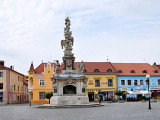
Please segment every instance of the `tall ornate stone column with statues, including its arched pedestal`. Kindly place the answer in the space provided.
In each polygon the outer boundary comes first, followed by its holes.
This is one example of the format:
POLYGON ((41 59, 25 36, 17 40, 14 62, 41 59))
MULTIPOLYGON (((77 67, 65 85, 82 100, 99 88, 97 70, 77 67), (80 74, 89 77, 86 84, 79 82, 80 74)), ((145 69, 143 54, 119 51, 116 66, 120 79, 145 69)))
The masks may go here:
POLYGON ((60 73, 60 64, 57 60, 55 76, 51 78, 53 86, 53 97, 51 105, 83 105, 89 104, 86 96, 87 79, 84 74, 85 63, 82 62, 74 69, 75 57, 72 53, 74 38, 70 31, 70 18, 66 17, 64 28, 65 40, 61 41, 64 48, 63 71, 60 73))

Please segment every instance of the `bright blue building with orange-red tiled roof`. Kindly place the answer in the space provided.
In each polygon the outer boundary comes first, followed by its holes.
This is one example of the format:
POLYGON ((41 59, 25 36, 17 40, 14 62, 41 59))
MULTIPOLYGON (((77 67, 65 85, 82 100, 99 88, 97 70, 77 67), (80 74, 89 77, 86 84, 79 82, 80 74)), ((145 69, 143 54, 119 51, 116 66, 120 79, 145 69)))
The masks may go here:
POLYGON ((160 97, 160 72, 148 63, 112 63, 118 75, 118 90, 128 94, 123 99, 148 97, 146 75, 150 75, 151 97, 160 97))

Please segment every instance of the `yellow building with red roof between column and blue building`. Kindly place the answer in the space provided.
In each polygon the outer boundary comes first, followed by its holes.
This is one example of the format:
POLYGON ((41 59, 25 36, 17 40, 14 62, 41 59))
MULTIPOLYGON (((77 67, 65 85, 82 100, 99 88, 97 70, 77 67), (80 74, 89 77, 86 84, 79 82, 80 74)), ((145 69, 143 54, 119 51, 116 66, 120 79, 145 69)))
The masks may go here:
POLYGON ((115 99, 117 74, 110 62, 86 62, 85 77, 88 77, 86 95, 89 101, 115 99))

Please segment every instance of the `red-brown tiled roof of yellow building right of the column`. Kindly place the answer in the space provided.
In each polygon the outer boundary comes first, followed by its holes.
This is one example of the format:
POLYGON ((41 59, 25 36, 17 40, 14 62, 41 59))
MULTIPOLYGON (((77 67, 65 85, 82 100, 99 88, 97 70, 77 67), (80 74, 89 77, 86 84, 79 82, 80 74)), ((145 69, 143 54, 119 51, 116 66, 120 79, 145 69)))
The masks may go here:
MULTIPOLYGON (((74 63, 75 69, 76 69, 77 64, 80 64, 80 63, 81 62, 74 63)), ((100 73, 107 73, 108 69, 112 70, 111 73, 116 72, 110 62, 85 62, 85 63, 86 63, 85 70, 87 71, 87 73, 94 73, 95 69, 98 69, 100 73)), ((63 70, 63 64, 61 64, 60 69, 63 70)))

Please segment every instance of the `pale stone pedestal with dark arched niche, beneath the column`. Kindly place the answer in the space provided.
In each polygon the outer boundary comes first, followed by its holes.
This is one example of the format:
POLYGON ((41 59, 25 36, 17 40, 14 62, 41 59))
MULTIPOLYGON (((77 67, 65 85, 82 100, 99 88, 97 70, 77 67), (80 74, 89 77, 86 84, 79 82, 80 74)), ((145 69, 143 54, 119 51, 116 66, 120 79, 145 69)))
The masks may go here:
POLYGON ((53 81, 53 96, 51 105, 86 105, 89 104, 85 88, 87 78, 78 74, 59 74, 51 78, 53 81))

